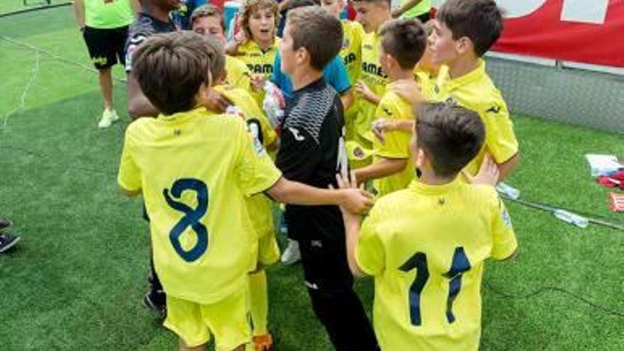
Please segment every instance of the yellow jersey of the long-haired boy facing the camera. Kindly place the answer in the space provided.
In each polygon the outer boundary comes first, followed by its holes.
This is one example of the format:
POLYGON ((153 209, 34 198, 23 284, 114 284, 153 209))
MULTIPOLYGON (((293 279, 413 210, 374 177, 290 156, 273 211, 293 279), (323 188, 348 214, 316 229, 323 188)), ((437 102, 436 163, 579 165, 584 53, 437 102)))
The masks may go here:
MULTIPOLYGON (((269 80, 271 79, 271 74, 273 74, 273 65, 277 50, 279 50, 279 38, 275 38, 273 46, 266 51, 262 50, 254 40, 246 40, 245 43, 238 47, 238 55, 236 58, 245 62, 252 76, 261 74, 264 78, 269 80)), ((262 106, 264 91, 252 91, 252 96, 255 101, 262 106)))

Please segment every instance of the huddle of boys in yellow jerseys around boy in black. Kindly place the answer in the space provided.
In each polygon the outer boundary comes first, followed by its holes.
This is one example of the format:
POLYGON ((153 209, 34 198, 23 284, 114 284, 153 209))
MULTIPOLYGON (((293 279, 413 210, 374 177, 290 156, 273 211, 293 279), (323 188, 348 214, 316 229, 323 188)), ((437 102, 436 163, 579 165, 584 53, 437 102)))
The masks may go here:
POLYGON ((286 204, 336 350, 478 350, 484 261, 518 247, 494 189, 518 143, 481 59, 501 11, 448 0, 423 24, 354 0, 355 22, 338 19, 341 0, 321 5, 290 9, 282 38, 274 0, 248 0, 229 43, 211 5, 191 16, 195 33, 130 28, 130 112, 157 118, 128 126, 118 182, 145 201, 165 326, 180 350, 211 335, 216 350, 272 348, 264 267, 286 204), (352 89, 326 82, 335 57, 352 89), (262 109, 275 71, 291 84, 277 128, 262 109), (373 325, 352 289, 364 276, 373 325))

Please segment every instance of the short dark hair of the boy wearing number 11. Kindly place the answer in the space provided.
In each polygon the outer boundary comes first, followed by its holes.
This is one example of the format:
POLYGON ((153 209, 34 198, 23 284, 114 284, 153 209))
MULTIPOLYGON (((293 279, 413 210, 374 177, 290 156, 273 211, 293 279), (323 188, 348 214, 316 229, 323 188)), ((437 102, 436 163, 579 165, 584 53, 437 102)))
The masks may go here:
POLYGON ((455 177, 483 145, 479 114, 461 106, 423 103, 416 107, 416 144, 439 177, 455 177))

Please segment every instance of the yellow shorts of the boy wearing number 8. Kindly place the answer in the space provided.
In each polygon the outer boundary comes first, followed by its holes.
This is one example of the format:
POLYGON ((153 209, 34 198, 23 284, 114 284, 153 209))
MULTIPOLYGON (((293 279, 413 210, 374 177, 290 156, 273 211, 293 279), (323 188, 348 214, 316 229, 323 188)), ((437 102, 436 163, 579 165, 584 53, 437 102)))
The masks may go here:
POLYGON ((167 319, 163 325, 188 347, 206 344, 212 334, 216 350, 229 351, 251 341, 248 313, 247 289, 208 305, 167 295, 167 319))

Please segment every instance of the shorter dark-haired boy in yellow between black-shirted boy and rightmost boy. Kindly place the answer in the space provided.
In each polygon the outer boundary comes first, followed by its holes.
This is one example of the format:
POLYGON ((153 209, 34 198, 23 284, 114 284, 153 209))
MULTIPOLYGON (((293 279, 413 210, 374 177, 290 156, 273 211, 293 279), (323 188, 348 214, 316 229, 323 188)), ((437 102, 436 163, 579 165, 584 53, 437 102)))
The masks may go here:
MULTIPOLYGON (((379 61, 391 83, 379 101, 375 116, 389 121, 413 121, 411 104, 392 91, 392 85, 400 80, 414 81, 414 67, 427 46, 425 28, 418 20, 401 19, 384 24, 379 34, 379 61)), ((355 171, 357 182, 374 179, 373 189, 378 197, 405 189, 416 173, 410 160, 409 140, 410 135, 400 130, 386 133, 384 143, 375 138, 373 163, 355 171)))

